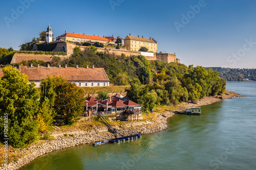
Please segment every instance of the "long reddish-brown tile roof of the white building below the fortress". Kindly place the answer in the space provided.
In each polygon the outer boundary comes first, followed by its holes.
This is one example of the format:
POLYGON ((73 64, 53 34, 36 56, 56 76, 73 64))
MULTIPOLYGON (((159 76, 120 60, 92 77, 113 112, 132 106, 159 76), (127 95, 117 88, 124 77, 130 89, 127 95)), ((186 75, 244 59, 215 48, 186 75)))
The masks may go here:
POLYGON ((68 81, 110 81, 104 68, 37 67, 19 66, 19 71, 28 75, 30 81, 42 80, 47 76, 62 76, 68 81))

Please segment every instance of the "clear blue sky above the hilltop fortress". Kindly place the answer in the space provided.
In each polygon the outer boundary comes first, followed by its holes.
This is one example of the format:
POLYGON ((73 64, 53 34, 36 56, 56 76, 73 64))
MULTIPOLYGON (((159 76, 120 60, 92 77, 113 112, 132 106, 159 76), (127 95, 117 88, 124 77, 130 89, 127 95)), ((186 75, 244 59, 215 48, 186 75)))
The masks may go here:
POLYGON ((256 1, 10 0, 0 2, 0 47, 67 32, 154 38, 185 65, 256 68, 256 1))

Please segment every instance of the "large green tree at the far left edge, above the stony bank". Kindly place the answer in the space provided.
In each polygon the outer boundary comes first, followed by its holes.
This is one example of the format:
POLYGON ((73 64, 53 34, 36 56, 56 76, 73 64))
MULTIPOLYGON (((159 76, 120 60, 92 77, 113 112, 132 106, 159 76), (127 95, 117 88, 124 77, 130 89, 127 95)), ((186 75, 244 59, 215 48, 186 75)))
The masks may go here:
MULTIPOLYGON (((33 119, 38 110, 39 94, 29 83, 28 76, 17 69, 6 66, 0 78, 0 124, 4 127, 4 115, 8 114, 9 143, 14 148, 24 148, 37 139, 38 122, 33 119)), ((0 131, 1 138, 6 138, 0 131)))

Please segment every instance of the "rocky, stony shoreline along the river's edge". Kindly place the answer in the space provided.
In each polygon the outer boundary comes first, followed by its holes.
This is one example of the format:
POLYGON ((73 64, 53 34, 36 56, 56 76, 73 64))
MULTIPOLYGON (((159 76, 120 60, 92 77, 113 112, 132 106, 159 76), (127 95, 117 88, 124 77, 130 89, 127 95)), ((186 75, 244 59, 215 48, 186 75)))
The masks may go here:
MULTIPOLYGON (((191 102, 182 102, 180 105, 176 106, 175 110, 181 111, 184 110, 185 107, 199 107, 204 105, 210 105, 216 102, 221 102, 225 99, 232 99, 236 97, 240 98, 244 96, 245 95, 241 95, 236 92, 225 91, 222 95, 204 97, 203 99, 200 99, 197 104, 191 102)), ((152 118, 152 120, 146 120, 144 122, 127 122, 124 126, 115 126, 115 128, 124 135, 132 135, 132 132, 128 128, 132 129, 136 133, 141 132, 141 134, 160 132, 168 128, 168 118, 175 115, 173 111, 174 110, 165 109, 165 112, 163 113, 155 113, 154 119, 152 118)), ((17 161, 8 163, 7 166, 2 165, 0 169, 18 169, 30 163, 35 158, 50 153, 52 151, 74 147, 75 145, 102 141, 100 137, 94 136, 93 134, 101 135, 105 138, 115 137, 112 133, 108 132, 108 128, 106 128, 105 126, 93 127, 89 131, 76 130, 68 132, 68 136, 64 135, 66 133, 67 132, 52 134, 52 136, 55 137, 55 139, 53 140, 39 140, 37 142, 39 144, 31 144, 28 148, 13 151, 17 155, 25 156, 18 158, 17 161), (74 136, 71 136, 71 134, 74 134, 74 136)))

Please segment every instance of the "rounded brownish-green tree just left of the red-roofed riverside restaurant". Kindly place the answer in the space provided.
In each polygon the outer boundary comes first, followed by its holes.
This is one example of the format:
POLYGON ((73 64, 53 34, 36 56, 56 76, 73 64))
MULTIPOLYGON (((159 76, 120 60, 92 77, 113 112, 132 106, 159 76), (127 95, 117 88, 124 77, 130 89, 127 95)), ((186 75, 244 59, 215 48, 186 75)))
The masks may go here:
POLYGON ((84 110, 84 92, 76 84, 64 82, 56 87, 55 107, 64 114, 64 122, 71 125, 84 110))

